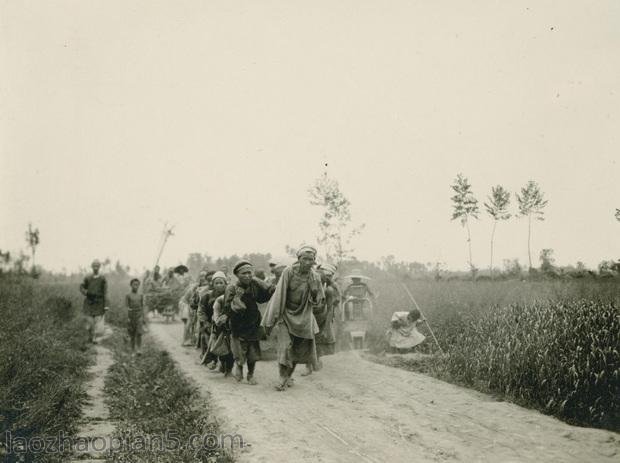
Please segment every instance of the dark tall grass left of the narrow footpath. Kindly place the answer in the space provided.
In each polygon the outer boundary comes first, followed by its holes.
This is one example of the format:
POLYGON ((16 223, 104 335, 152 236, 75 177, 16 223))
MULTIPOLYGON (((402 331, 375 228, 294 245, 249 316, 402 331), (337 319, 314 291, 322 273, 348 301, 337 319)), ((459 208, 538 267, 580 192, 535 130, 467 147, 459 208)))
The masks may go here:
POLYGON ((0 460, 66 458, 58 448, 40 450, 39 443, 77 431, 94 354, 79 312, 78 299, 65 288, 0 278, 0 460), (24 442, 31 450, 19 449, 24 442))

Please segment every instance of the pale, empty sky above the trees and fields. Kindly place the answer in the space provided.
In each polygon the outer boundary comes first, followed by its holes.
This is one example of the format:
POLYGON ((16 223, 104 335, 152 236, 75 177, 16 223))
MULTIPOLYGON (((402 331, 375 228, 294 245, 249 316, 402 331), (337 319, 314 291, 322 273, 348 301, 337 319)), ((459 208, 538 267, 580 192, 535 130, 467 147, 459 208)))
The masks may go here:
MULTIPOLYGON (((467 268, 463 173, 538 182, 532 254, 620 257, 620 2, 0 0, 0 249, 60 271, 109 257, 284 255, 327 173, 359 259, 467 268)), ((512 211, 516 211, 514 195, 512 211)), ((492 222, 471 226, 488 267, 492 222)), ((527 221, 496 260, 527 262, 527 221)))

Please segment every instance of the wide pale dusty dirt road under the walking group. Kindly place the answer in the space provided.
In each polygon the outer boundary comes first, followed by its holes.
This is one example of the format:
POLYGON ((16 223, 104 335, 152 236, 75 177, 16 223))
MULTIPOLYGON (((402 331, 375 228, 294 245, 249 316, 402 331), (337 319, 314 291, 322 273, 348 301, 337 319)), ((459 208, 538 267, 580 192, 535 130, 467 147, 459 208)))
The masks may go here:
MULTIPOLYGON (((154 322, 157 339, 210 394, 224 432, 243 436, 240 461, 617 462, 620 435, 569 426, 536 411, 428 376, 368 362, 355 352, 324 358, 309 377, 274 389, 275 362, 259 385, 198 365, 181 325, 154 322)), ((303 369, 300 369, 303 371, 303 369)))

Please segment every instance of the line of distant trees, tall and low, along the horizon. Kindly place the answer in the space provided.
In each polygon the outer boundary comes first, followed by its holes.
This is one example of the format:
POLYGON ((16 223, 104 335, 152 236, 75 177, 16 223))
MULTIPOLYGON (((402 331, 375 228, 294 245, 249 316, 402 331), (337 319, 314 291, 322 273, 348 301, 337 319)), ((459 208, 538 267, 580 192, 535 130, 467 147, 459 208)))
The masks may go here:
MULTIPOLYGON (((459 220, 463 228, 467 233, 467 246, 469 254, 469 274, 471 279, 476 279, 479 269, 473 263, 472 247, 471 247, 471 230, 470 222, 472 220, 478 220, 480 215, 480 206, 478 199, 475 197, 472 185, 463 174, 459 173, 451 185, 453 191, 452 201, 452 220, 459 220)), ((322 251, 321 254, 325 257, 325 260, 332 262, 337 266, 346 264, 367 264, 374 266, 381 271, 396 272, 402 275, 408 275, 409 277, 428 277, 433 275, 435 279, 446 277, 458 277, 462 278, 464 272, 448 271, 445 269, 445 264, 441 262, 396 262, 394 256, 382 257, 380 261, 369 263, 365 261, 357 261, 354 256, 354 247, 352 241, 364 230, 365 224, 356 225, 352 220, 351 203, 344 195, 340 186, 334 178, 331 178, 324 173, 321 177, 315 180, 315 182, 308 189, 310 198, 310 205, 316 206, 322 209, 322 215, 319 219, 317 235, 317 242, 319 248, 322 251)), ((490 264, 489 264, 489 276, 493 279, 496 275, 498 277, 521 277, 524 273, 523 267, 517 259, 504 259, 503 270, 497 269, 494 265, 494 244, 497 226, 500 222, 505 222, 512 217, 526 217, 528 220, 528 234, 527 234, 527 250, 528 250, 528 267, 527 273, 529 276, 543 275, 545 277, 585 277, 585 276, 616 276, 620 274, 620 261, 610 259, 604 260, 599 263, 597 272, 589 270, 582 262, 577 262, 575 266, 558 267, 555 265, 555 259, 552 249, 543 249, 539 255, 540 267, 536 269, 532 262, 532 250, 531 250, 531 237, 532 237, 532 225, 535 221, 544 220, 544 209, 548 201, 544 197, 544 193, 540 189, 540 186, 533 180, 527 182, 527 184, 521 188, 519 193, 515 193, 515 199, 517 202, 517 212, 510 211, 511 206, 511 194, 502 185, 496 185, 491 188, 490 195, 487 196, 487 201, 483 203, 487 215, 491 218, 493 225, 490 234, 490 264)), ((620 222, 620 209, 616 209, 614 216, 616 220, 620 222)), ((76 275, 76 273, 69 274, 64 271, 61 273, 54 273, 45 271, 35 265, 35 256, 37 247, 40 244, 40 233, 38 228, 28 224, 26 230, 26 244, 30 251, 30 255, 20 251, 17 257, 11 255, 8 251, 0 250, 0 275, 2 274, 17 274, 25 275, 30 274, 33 277, 38 277, 40 274, 51 275, 76 275), (28 268, 28 262, 31 265, 28 268)), ((307 244, 307 243, 300 243, 307 244)), ((287 245, 285 252, 287 255, 294 257, 295 250, 297 248, 287 245)), ((187 256, 186 265, 190 270, 190 273, 197 275, 202 269, 213 270, 230 270, 234 266, 235 262, 240 259, 249 260, 254 263, 257 270, 267 272, 269 269, 269 263, 272 261, 272 255, 270 253, 246 253, 244 255, 232 255, 232 256, 220 256, 213 257, 208 253, 193 252, 187 256)), ((102 261, 103 271, 114 275, 118 278, 128 277, 130 274, 136 273, 143 274, 144 270, 136 272, 129 266, 122 265, 120 261, 116 261, 112 264, 109 258, 102 261)), ((87 271, 86 268, 80 267, 77 274, 84 274, 87 271)), ((481 277, 485 277, 481 275, 481 277)))

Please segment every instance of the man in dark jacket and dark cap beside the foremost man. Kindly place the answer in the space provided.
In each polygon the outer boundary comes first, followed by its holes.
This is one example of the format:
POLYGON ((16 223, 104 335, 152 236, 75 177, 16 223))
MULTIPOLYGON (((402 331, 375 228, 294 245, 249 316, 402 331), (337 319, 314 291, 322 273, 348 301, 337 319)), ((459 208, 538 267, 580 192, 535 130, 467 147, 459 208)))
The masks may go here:
POLYGON ((226 288, 224 311, 230 322, 230 349, 235 359, 235 378, 243 380, 243 367, 247 364, 247 381, 255 385, 254 368, 260 360, 261 313, 258 304, 267 302, 273 293, 273 286, 254 276, 254 267, 242 260, 233 268, 237 277, 235 284, 226 288))

